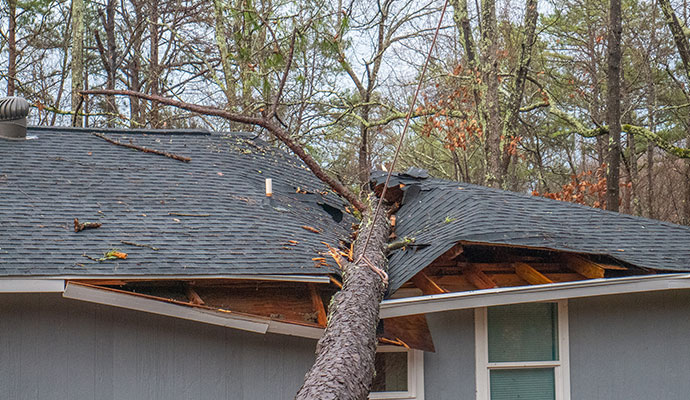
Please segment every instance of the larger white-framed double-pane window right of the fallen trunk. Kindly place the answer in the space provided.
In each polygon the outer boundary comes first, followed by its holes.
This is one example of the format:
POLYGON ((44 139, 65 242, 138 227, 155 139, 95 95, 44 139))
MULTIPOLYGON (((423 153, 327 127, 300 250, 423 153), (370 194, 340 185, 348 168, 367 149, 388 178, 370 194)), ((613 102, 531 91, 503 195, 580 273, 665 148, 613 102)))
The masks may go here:
POLYGON ((477 400, 568 400, 568 303, 475 309, 477 400))

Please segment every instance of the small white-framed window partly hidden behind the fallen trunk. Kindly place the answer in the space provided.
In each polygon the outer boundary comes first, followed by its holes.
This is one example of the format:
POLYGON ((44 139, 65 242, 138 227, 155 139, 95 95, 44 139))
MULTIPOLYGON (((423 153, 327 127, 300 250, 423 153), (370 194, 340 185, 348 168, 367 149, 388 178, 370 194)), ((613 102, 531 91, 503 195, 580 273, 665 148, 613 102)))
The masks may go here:
POLYGON ((380 346, 370 399, 424 399, 424 352, 380 346))

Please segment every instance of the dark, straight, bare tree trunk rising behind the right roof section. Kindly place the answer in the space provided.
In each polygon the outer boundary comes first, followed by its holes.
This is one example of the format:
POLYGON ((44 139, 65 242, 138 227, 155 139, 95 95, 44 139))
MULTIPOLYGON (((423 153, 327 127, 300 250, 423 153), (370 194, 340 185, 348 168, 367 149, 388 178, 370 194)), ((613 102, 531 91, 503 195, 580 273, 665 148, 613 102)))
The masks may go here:
POLYGON ((621 0, 609 0, 608 92, 606 119, 609 126, 606 209, 618 211, 621 159, 621 0))

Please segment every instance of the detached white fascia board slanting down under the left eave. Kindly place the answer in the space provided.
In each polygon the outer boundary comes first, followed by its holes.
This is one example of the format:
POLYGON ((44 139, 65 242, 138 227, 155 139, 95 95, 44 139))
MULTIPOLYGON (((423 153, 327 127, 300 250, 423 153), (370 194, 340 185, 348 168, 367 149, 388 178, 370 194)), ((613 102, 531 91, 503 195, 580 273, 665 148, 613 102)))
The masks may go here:
POLYGON ((245 318, 235 315, 225 315, 220 311, 203 310, 185 307, 164 301, 153 300, 141 296, 98 289, 74 283, 68 283, 63 297, 91 303, 104 304, 113 307, 126 308, 152 314, 166 315, 190 321, 203 322, 211 325, 225 326, 243 331, 266 333, 269 320, 245 318))

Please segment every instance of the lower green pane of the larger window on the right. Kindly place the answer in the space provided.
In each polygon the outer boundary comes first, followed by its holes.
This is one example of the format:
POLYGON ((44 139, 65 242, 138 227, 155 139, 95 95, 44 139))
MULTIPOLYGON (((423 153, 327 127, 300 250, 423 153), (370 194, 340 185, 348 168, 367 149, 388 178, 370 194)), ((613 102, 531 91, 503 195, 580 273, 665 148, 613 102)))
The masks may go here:
POLYGON ((490 371, 491 400, 555 400, 553 368, 490 371))

